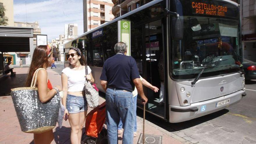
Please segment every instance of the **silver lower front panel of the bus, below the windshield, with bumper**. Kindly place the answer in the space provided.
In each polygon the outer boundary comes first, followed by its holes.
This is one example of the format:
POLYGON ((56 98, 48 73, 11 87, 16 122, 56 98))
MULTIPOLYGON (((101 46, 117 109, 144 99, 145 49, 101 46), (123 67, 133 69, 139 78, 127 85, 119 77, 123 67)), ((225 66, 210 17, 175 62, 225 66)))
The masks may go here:
POLYGON ((191 120, 236 104, 245 93, 243 81, 240 73, 200 79, 194 86, 191 86, 192 81, 168 78, 169 122, 191 120), (184 104, 185 100, 188 104, 184 104), (218 102, 225 100, 228 104, 217 107, 218 102))

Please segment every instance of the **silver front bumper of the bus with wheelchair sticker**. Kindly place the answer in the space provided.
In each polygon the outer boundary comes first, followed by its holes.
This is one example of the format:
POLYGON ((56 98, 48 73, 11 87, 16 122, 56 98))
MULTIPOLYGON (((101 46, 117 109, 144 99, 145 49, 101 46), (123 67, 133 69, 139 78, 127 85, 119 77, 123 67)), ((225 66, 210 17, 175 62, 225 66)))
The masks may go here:
POLYGON ((206 100, 203 102, 196 102, 196 103, 190 104, 189 106, 169 105, 169 110, 170 110, 169 122, 171 123, 183 122, 183 121, 191 120, 194 118, 201 117, 203 115, 207 115, 207 114, 225 109, 231 106, 232 104, 238 103, 242 99, 242 96, 244 96, 244 93, 245 93, 245 90, 239 90, 229 95, 206 100), (221 102, 227 99, 230 99, 229 103, 216 107, 218 102, 221 102))

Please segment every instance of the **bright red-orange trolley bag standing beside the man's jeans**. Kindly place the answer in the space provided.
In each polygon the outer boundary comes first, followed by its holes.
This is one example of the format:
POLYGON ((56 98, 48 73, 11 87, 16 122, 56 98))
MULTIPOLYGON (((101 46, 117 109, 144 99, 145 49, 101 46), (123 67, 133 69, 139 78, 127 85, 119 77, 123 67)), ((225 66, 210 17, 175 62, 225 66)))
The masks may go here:
POLYGON ((85 133, 87 136, 98 137, 106 120, 106 102, 97 106, 86 116, 85 133))

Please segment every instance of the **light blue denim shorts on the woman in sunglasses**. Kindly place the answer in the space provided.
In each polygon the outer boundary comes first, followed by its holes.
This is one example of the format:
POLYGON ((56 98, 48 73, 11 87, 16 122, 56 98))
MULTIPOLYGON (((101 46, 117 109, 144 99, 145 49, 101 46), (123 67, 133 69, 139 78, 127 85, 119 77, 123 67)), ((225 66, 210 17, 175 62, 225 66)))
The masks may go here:
POLYGON ((88 110, 88 105, 85 97, 67 95, 67 111, 68 113, 79 113, 88 110))

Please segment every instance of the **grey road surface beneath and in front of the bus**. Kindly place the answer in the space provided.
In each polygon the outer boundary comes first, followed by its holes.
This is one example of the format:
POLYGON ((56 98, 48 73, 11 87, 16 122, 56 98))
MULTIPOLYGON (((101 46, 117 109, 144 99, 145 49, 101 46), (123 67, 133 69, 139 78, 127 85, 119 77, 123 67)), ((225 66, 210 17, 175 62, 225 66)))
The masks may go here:
MULTIPOLYGON (((64 65, 56 66, 53 70, 61 74, 64 65)), ((149 113, 146 119, 191 143, 256 143, 256 80, 246 81, 246 89, 246 97, 238 104, 194 120, 171 124, 149 113)), ((142 117, 140 109, 137 113, 142 117)))

